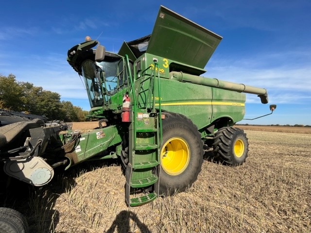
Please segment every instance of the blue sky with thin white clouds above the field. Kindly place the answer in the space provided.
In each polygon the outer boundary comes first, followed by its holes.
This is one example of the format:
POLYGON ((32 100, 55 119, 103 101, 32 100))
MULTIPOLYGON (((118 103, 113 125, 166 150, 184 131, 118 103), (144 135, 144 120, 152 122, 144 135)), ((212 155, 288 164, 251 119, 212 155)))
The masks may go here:
MULTIPOLYGON (((89 110, 67 50, 89 35, 118 52, 124 40, 152 32, 160 4, 223 36, 203 76, 268 90, 274 114, 240 123, 311 125, 310 0, 4 1, 0 74, 89 110)), ((245 106, 245 118, 270 113, 255 95, 245 106)))

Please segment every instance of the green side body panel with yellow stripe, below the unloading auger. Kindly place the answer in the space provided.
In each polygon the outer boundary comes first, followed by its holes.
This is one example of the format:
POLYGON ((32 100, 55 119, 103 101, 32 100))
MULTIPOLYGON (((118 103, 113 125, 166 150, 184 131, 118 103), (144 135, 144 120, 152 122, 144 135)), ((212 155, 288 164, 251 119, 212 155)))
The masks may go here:
POLYGON ((187 116, 198 130, 221 117, 237 122, 244 116, 243 93, 166 79, 160 80, 160 86, 162 111, 187 116))

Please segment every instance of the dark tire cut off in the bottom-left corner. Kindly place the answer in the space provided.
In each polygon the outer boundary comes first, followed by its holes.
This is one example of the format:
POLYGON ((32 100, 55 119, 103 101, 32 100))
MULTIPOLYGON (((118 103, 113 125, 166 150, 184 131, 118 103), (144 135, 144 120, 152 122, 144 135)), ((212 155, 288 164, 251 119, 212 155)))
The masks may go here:
POLYGON ((9 208, 0 208, 0 233, 28 233, 25 216, 9 208))

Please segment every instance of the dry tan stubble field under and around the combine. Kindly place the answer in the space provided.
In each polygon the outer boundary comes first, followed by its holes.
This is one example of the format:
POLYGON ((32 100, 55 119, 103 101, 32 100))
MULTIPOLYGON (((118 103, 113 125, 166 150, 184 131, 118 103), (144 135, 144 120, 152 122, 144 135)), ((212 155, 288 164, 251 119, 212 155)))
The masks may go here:
POLYGON ((58 172, 8 205, 27 213, 31 232, 310 233, 311 134, 261 130, 245 129, 250 145, 242 166, 209 161, 207 152, 192 187, 141 207, 126 207, 114 160, 58 172))

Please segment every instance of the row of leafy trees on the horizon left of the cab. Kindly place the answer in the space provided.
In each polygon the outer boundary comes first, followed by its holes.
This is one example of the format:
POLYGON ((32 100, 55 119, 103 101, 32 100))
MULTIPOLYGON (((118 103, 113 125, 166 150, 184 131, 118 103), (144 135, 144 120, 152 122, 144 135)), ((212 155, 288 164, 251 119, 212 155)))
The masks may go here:
POLYGON ((87 115, 87 111, 70 101, 60 101, 58 93, 33 83, 18 82, 13 74, 0 75, 0 108, 65 122, 85 121, 87 115))

